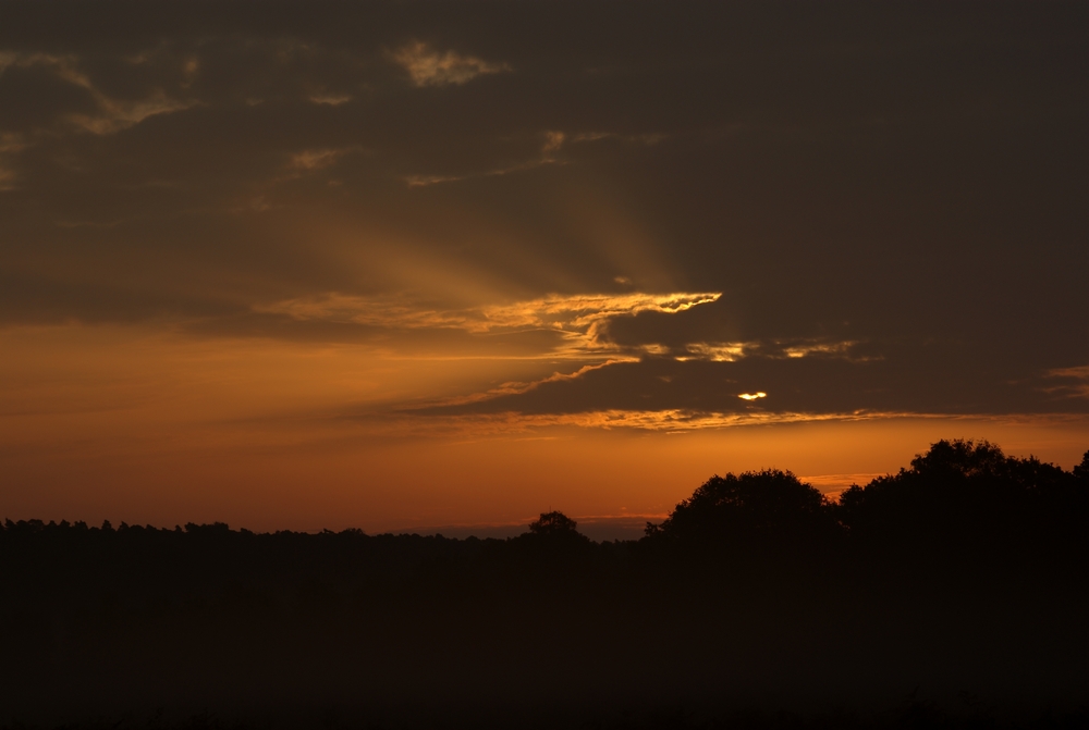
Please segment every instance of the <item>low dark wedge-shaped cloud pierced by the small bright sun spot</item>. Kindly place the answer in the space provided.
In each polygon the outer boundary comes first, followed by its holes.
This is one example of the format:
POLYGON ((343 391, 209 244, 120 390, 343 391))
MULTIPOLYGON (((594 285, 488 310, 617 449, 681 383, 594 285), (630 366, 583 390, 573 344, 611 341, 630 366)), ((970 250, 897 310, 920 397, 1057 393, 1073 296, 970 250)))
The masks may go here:
MULTIPOLYGON (((1002 415, 1085 412, 1084 396, 1056 387, 1047 373, 964 367, 942 348, 919 346, 897 357, 852 361, 828 356, 752 356, 737 361, 646 358, 553 378, 514 394, 429 407, 421 415, 571 415, 686 411, 694 415, 854 413, 1002 415), (945 356, 945 357, 943 357, 945 356), (1011 380, 1008 375, 1019 374, 1011 380), (755 399, 742 395, 763 393, 755 399)), ((1074 379, 1067 379, 1067 381, 1074 379)))

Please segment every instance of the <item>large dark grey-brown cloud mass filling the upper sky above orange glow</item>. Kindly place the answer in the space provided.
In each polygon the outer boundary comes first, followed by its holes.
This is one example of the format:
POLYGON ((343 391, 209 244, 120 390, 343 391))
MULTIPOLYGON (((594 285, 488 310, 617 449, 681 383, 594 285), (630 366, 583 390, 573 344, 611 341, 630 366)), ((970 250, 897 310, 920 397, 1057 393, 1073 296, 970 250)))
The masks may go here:
MULTIPOLYGON (((261 307, 721 292, 607 336, 751 357, 464 408, 1085 410, 1045 374, 1089 361, 1087 29, 1062 2, 9 2, 0 321, 356 342, 261 307)), ((428 332, 389 336, 476 347, 428 332)))

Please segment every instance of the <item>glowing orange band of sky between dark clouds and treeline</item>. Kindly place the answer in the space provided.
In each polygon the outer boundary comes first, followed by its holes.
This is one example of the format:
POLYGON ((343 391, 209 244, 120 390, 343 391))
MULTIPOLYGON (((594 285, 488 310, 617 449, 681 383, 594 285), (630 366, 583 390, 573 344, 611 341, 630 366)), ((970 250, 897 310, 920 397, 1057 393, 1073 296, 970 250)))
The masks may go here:
POLYGON ((621 518, 663 515, 726 471, 791 469, 834 494, 907 466, 942 437, 988 438, 1067 469, 1089 443, 1089 419, 1078 417, 399 421, 375 409, 450 397, 512 368, 530 381, 541 368, 121 327, 0 338, 14 355, 0 364, 11 519, 374 532, 518 523, 550 506, 621 518))

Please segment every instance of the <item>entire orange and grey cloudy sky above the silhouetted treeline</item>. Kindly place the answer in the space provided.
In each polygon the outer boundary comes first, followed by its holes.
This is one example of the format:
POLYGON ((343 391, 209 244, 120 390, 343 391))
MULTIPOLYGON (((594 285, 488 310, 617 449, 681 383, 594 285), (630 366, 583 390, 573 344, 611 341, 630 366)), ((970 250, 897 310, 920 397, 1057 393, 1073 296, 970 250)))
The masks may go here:
POLYGON ((0 519, 1069 469, 1087 129, 1085 3, 4 2, 0 519))

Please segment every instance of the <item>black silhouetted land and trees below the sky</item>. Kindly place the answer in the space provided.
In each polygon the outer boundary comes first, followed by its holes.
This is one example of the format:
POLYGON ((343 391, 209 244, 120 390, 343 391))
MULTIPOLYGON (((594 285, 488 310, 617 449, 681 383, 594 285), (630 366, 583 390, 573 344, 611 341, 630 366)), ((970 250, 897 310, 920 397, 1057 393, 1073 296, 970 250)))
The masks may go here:
POLYGON ((0 727, 1085 727, 1089 454, 939 442, 638 542, 0 531, 0 727))

